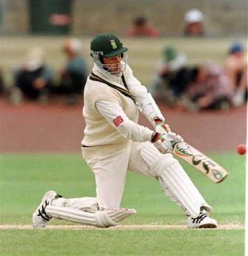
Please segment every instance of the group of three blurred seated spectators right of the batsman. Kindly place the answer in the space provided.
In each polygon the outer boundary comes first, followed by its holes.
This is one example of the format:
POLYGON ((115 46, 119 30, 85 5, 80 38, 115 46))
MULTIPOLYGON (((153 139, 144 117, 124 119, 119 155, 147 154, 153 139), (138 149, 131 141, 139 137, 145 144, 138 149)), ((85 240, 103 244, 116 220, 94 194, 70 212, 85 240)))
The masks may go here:
POLYGON ((206 61, 189 66, 184 53, 166 46, 151 84, 151 94, 170 106, 190 110, 239 107, 247 99, 247 55, 231 44, 223 66, 206 61))

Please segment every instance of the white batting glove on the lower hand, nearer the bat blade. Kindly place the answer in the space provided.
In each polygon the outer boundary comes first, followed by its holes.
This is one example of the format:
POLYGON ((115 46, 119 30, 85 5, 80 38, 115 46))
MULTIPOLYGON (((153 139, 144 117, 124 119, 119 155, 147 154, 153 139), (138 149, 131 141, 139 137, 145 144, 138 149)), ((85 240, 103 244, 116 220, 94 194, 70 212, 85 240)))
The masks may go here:
POLYGON ((165 154, 172 153, 175 144, 183 142, 184 139, 180 135, 170 131, 166 134, 156 132, 151 141, 162 154, 165 154))

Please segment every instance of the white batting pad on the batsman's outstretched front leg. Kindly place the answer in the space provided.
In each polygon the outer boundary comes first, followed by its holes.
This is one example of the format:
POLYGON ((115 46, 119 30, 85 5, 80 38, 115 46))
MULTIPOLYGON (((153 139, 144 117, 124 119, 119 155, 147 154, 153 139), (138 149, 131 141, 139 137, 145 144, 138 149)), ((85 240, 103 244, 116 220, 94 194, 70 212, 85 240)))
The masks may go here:
POLYGON ((146 144, 141 156, 150 166, 152 176, 159 180, 164 193, 188 215, 197 217, 202 206, 207 212, 212 211, 172 154, 161 154, 152 144, 146 144))

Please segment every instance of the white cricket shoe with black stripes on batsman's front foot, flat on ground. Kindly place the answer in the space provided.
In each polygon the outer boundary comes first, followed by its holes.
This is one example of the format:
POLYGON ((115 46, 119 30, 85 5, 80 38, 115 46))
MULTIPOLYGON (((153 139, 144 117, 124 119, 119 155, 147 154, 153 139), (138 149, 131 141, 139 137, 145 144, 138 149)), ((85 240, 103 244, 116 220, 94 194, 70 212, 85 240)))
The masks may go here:
POLYGON ((217 228, 217 221, 203 210, 196 218, 188 217, 188 228, 217 228))

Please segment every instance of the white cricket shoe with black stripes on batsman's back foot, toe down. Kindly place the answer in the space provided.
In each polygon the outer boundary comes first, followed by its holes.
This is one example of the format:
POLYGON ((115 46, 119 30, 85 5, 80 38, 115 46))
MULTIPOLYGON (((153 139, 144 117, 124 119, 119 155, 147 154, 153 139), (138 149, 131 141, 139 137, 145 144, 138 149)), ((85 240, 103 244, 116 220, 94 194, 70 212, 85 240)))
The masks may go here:
POLYGON ((34 228, 44 228, 47 222, 52 218, 46 213, 46 207, 51 205, 51 202, 55 198, 62 197, 55 191, 48 191, 41 199, 41 203, 33 213, 32 222, 34 228))

